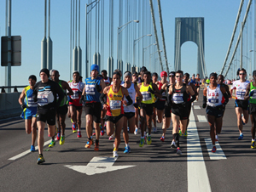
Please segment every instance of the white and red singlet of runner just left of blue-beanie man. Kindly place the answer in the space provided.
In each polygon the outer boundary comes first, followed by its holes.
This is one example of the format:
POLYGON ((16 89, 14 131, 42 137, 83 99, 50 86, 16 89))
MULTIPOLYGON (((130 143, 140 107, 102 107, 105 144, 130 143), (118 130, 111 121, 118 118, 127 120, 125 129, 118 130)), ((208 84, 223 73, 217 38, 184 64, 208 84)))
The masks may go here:
POLYGON ((69 87, 73 90, 73 95, 70 95, 71 99, 73 99, 69 104, 74 104, 75 106, 82 106, 83 104, 79 104, 79 99, 81 98, 81 94, 79 92, 83 92, 84 83, 83 82, 69 82, 69 87))

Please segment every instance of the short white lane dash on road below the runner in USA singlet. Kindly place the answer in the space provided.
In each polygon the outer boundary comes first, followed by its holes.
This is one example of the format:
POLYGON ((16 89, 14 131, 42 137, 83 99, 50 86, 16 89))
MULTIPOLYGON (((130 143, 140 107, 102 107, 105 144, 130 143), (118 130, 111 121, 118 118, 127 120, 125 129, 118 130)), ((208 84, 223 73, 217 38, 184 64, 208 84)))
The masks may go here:
POLYGON ((206 144, 207 144, 207 151, 210 156, 211 160, 226 160, 227 157, 224 155, 223 150, 221 149, 218 142, 215 142, 216 146, 216 152, 212 153, 212 139, 211 138, 205 138, 206 144))

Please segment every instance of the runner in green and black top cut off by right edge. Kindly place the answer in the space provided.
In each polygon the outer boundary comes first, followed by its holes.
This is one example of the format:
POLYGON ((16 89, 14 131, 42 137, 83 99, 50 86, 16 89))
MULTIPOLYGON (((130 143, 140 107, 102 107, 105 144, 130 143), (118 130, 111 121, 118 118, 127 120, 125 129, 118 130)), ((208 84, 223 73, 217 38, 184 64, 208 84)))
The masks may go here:
POLYGON ((256 149, 255 145, 255 129, 256 129, 256 71, 253 71, 253 82, 247 84, 247 91, 244 99, 249 99, 249 114, 252 122, 252 144, 251 148, 256 149))

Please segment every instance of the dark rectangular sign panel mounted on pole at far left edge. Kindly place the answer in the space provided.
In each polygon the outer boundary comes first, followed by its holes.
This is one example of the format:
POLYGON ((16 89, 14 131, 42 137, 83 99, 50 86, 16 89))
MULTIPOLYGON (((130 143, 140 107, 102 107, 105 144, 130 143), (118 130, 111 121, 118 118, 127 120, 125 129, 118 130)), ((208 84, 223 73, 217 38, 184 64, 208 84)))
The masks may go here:
MULTIPOLYGON (((21 36, 12 36, 12 66, 21 65, 21 36)), ((1 66, 8 66, 8 36, 1 37, 1 66)))

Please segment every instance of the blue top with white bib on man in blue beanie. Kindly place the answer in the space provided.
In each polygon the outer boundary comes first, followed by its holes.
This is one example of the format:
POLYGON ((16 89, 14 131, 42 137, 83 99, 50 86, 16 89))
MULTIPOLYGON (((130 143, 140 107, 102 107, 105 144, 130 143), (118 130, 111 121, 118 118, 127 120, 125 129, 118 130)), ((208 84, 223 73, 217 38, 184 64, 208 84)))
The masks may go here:
POLYGON ((85 93, 86 100, 88 102, 100 102, 101 93, 97 92, 95 85, 101 84, 101 77, 97 76, 96 79, 91 79, 91 77, 85 79, 85 93))

